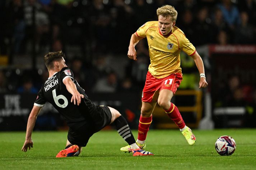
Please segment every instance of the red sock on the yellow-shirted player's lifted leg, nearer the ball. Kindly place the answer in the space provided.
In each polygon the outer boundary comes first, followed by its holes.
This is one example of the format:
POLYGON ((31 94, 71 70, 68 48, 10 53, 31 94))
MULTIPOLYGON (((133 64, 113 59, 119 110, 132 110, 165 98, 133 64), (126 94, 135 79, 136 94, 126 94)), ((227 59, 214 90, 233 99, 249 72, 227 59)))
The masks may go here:
POLYGON ((183 121, 183 118, 181 117, 181 113, 173 103, 171 103, 171 107, 168 110, 165 110, 165 112, 180 129, 186 126, 185 122, 183 121))

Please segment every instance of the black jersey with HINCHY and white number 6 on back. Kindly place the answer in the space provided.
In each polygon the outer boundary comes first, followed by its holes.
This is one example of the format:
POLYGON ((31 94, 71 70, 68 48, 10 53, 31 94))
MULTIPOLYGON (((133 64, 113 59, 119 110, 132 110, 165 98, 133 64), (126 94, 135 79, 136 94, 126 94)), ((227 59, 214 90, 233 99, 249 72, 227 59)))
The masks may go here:
POLYGON ((64 67, 60 72, 56 72, 42 85, 34 105, 42 107, 46 102, 51 103, 59 111, 67 121, 69 127, 75 126, 77 122, 91 121, 90 113, 96 109, 96 106, 85 94, 84 89, 74 79, 73 72, 68 67, 64 67), (84 98, 81 98, 82 101, 79 106, 70 102, 72 94, 68 92, 63 83, 66 78, 71 78, 78 92, 84 95, 84 98))

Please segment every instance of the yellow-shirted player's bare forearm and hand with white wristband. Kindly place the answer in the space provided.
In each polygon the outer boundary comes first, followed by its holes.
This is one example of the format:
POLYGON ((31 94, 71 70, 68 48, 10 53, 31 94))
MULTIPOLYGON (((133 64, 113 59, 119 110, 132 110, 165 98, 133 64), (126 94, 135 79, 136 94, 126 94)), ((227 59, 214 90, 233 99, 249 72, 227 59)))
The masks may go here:
MULTIPOLYGON (((204 63, 202 58, 200 57, 200 55, 195 52, 194 55, 192 55, 192 58, 194 59, 194 62, 196 63, 196 67, 199 71, 199 73, 203 73, 204 74, 204 63)), ((199 88, 205 88, 208 86, 208 83, 206 82, 206 78, 205 76, 200 76, 200 81, 199 81, 199 88)))

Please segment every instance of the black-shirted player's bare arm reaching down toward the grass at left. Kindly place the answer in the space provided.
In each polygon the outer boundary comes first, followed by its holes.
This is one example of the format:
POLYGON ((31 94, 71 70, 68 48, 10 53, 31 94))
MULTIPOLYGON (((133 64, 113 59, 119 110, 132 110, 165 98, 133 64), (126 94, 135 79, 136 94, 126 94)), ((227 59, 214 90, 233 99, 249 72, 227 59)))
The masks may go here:
POLYGON ((31 135, 36 123, 37 115, 40 112, 41 108, 42 107, 34 106, 30 112, 30 115, 28 117, 26 139, 21 149, 23 152, 27 152, 28 148, 30 150, 30 148, 33 147, 33 141, 31 139, 31 135))

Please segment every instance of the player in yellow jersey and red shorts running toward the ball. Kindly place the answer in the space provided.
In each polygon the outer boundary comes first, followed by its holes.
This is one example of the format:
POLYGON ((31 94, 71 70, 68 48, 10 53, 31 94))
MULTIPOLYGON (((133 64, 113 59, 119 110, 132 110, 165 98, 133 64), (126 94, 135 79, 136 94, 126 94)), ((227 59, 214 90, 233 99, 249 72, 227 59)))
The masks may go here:
MULTIPOLYGON (((190 55, 196 63, 200 73, 199 88, 208 85, 204 74, 203 60, 182 30, 174 26, 177 11, 171 5, 158 8, 157 16, 158 21, 149 21, 132 34, 128 50, 128 57, 136 60, 135 45, 143 38, 148 40, 150 65, 142 93, 138 140, 136 142, 141 149, 145 149, 145 139, 152 122, 152 112, 158 102, 159 106, 180 128, 188 144, 194 145, 196 137, 191 129, 185 125, 178 108, 170 101, 182 81, 181 50, 190 55)), ((121 151, 130 152, 130 146, 122 147, 121 151)))

